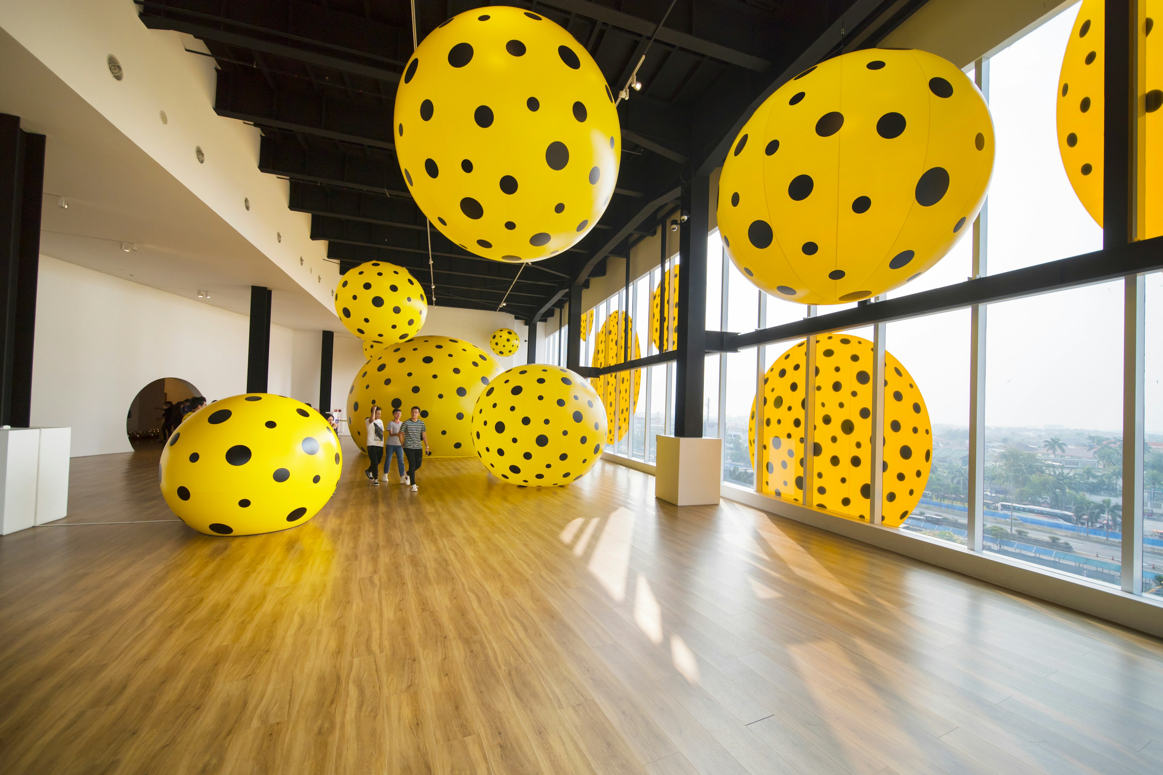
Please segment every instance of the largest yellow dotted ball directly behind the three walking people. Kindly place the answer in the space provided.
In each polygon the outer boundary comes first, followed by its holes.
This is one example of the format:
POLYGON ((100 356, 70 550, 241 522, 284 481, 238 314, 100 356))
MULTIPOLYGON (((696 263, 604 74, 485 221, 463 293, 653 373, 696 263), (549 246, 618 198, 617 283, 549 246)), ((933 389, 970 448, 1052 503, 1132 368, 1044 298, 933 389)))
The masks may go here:
POLYGON ((469 457, 472 404, 498 372, 495 358, 464 339, 426 336, 380 350, 348 390, 351 439, 368 451, 364 421, 372 404, 381 408, 385 421, 392 418, 392 409, 400 409, 407 419, 412 407, 420 407, 433 454, 469 457))

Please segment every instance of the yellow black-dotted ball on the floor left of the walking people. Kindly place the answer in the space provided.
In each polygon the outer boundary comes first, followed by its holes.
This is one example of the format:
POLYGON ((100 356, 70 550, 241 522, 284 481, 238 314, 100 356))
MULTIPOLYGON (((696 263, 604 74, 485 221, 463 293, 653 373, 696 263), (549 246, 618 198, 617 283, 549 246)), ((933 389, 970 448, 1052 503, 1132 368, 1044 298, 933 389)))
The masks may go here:
POLYGON ((166 505, 207 536, 286 530, 314 517, 343 471, 340 438, 293 399, 249 393, 204 407, 162 450, 166 505))

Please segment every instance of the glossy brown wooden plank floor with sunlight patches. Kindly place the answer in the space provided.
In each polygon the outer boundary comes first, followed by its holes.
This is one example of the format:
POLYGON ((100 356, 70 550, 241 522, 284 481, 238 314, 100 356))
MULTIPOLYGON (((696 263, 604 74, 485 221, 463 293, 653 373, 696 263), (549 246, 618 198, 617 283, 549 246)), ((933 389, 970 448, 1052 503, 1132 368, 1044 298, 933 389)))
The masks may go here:
POLYGON ((0 772, 1163 773, 1158 640, 607 462, 347 454, 248 538, 74 459, 73 524, 0 539, 0 772))

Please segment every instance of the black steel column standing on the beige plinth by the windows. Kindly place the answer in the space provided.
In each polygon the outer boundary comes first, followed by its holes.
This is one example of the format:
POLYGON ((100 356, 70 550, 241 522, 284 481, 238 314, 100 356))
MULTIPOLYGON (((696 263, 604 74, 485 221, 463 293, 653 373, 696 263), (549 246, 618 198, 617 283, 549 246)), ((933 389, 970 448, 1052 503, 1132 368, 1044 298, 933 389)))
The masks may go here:
MULTIPOLYGON (((707 232, 711 178, 695 175, 683 186, 678 270, 678 366, 675 436, 702 436, 702 379, 707 345, 707 232)), ((665 239, 665 235, 663 236, 665 239)), ((665 281, 665 280, 664 280, 665 281)))

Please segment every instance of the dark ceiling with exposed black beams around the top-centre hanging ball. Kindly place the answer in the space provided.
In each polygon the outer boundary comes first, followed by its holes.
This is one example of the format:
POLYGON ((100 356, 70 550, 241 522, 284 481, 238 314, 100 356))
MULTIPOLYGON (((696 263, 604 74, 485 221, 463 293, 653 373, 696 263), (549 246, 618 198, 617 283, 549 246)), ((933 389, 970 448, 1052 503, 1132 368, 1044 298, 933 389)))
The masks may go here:
MULTIPOLYGON (((205 42, 216 60, 215 110, 263 132, 259 168, 290 180, 288 207, 350 267, 384 259, 429 281, 429 231, 395 159, 395 87, 412 55, 406 0, 138 0, 142 22, 205 42)), ((445 19, 487 6, 416 0, 423 40, 445 19)), ((613 92, 638 70, 641 91, 619 106, 622 159, 615 195, 573 249, 518 266, 487 260, 430 230, 437 303, 544 318, 585 267, 605 272, 673 208, 692 171, 716 166, 756 100, 800 64, 871 45, 920 0, 545 0, 511 2, 548 16, 593 56, 613 92), (665 24, 659 21, 668 14, 665 24), (847 26, 847 28, 846 28, 847 26), (839 31, 835 44, 819 42, 839 31), (872 34, 875 31, 875 35, 872 34), (815 49, 811 49, 815 43, 815 49), (514 282, 515 280, 515 282, 514 282)), ((197 52, 191 52, 192 55, 197 52)), ((791 74, 794 74, 794 70, 791 74)))

